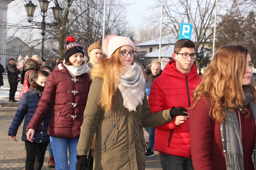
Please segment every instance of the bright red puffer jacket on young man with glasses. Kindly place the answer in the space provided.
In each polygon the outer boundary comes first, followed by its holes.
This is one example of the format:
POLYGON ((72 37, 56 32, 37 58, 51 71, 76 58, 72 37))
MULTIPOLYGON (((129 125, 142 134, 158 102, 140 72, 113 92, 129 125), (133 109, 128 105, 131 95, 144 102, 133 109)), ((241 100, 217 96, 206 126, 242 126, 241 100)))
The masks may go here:
MULTIPOLYGON (((151 112, 158 112, 172 107, 189 107, 193 105, 193 90, 200 83, 201 78, 195 65, 190 72, 181 73, 176 68, 175 60, 170 61, 162 74, 156 78, 151 86, 148 102, 151 112)), ((156 127, 154 149, 159 154, 166 153, 174 156, 190 157, 189 123, 175 126, 173 121, 156 127)))

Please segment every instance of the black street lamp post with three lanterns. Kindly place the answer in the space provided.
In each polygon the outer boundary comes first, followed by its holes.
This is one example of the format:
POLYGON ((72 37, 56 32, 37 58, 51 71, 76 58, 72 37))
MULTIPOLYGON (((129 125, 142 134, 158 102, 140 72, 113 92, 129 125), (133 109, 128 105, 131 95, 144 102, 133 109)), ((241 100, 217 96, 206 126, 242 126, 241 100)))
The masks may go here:
POLYGON ((48 9, 48 5, 49 5, 50 1, 47 0, 39 0, 39 4, 41 7, 41 16, 43 17, 42 22, 35 22, 33 21, 33 15, 35 12, 35 7, 37 7, 37 5, 34 5, 31 0, 26 3, 26 5, 24 5, 26 7, 26 11, 27 11, 27 16, 28 16, 28 22, 35 24, 38 27, 41 27, 42 31, 41 31, 41 35, 42 35, 42 48, 41 48, 41 58, 43 58, 44 56, 44 35, 45 35, 45 28, 48 27, 52 27, 52 26, 57 26, 59 23, 59 19, 62 13, 62 8, 59 6, 59 4, 56 4, 54 7, 52 7, 53 10, 53 16, 55 19, 54 23, 46 23, 45 22, 45 17, 47 16, 47 9, 48 9))

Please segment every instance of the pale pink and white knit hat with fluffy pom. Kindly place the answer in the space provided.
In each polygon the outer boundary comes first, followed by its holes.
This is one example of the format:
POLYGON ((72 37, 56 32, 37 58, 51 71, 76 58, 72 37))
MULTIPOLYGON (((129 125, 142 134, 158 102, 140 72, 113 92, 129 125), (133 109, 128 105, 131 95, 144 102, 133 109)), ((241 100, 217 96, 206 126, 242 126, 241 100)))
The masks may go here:
POLYGON ((133 50, 135 50, 135 46, 129 38, 111 34, 104 38, 102 42, 102 51, 108 58, 110 58, 116 49, 122 46, 131 46, 133 50))

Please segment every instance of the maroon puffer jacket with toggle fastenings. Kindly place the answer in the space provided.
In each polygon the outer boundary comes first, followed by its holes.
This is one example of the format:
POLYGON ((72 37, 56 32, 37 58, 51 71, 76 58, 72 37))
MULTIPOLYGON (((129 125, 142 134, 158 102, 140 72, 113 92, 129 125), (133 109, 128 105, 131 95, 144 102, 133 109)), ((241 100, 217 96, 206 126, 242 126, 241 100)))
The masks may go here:
POLYGON ((66 139, 78 138, 90 85, 88 73, 73 78, 60 63, 49 75, 38 108, 27 129, 37 131, 53 104, 48 135, 66 139))

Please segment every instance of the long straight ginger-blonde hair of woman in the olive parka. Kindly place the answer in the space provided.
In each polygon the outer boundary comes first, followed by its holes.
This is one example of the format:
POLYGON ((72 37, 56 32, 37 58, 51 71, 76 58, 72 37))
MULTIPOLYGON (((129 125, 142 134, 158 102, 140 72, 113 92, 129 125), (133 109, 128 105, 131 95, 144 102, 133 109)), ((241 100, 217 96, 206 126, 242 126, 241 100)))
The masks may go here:
POLYGON ((115 92, 117 90, 120 71, 124 69, 119 54, 120 49, 121 47, 110 58, 102 58, 98 66, 90 72, 92 79, 96 77, 102 79, 99 105, 105 111, 109 111, 115 104, 115 92))

